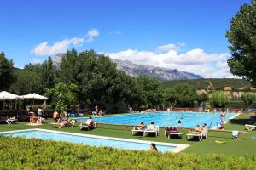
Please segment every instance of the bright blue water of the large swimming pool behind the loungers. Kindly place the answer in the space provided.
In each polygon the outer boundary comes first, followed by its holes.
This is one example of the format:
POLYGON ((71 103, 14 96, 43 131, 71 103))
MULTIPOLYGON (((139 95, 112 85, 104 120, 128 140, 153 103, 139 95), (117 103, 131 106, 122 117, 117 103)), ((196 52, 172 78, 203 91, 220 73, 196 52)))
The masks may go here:
MULTIPOLYGON (((229 113, 225 116, 229 120, 234 113, 229 113)), ((87 118, 80 118, 77 121, 86 121, 87 118)), ((205 112, 152 112, 143 114, 121 115, 121 116, 102 116, 94 117, 93 120, 102 123, 111 124, 129 124, 137 125, 140 122, 159 125, 161 127, 177 126, 178 120, 181 119, 182 127, 195 127, 197 124, 201 126, 207 123, 207 126, 214 128, 220 122, 220 113, 205 113, 205 112)))

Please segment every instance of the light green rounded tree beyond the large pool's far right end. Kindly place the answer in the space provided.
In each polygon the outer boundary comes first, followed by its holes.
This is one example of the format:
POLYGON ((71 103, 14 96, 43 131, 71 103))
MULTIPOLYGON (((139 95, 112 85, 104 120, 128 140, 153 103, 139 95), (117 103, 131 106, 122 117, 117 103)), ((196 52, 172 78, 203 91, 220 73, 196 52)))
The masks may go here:
POLYGON ((230 102, 230 99, 230 94, 226 94, 223 91, 215 91, 210 94, 210 102, 212 102, 215 107, 224 107, 230 102))

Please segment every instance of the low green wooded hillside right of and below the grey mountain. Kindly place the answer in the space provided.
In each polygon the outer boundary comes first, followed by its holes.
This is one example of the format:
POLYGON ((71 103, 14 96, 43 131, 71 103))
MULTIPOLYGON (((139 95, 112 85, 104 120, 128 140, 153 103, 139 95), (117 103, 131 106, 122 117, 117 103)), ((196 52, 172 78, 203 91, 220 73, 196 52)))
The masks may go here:
POLYGON ((250 82, 242 79, 235 78, 207 78, 207 79, 195 79, 195 80, 177 80, 163 82, 164 88, 174 88, 177 84, 190 84, 194 85, 197 89, 217 89, 223 90, 225 87, 231 87, 233 90, 237 88, 253 88, 250 82))

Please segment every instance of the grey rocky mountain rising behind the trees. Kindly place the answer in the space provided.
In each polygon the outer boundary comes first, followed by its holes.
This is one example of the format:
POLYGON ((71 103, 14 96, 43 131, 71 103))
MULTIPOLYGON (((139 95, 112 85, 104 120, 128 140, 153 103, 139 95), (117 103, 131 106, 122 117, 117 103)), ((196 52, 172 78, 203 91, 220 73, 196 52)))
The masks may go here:
MULTIPOLYGON (((56 54, 55 59, 53 59, 53 65, 56 68, 59 68, 61 65, 62 59, 64 59, 66 54, 56 54)), ((122 61, 119 59, 112 59, 114 63, 117 64, 117 67, 132 77, 137 76, 148 76, 156 78, 161 82, 169 80, 190 80, 190 79, 201 79, 203 77, 195 75, 190 72, 178 71, 177 69, 167 69, 163 67, 156 67, 150 65, 137 65, 131 61, 122 61)))

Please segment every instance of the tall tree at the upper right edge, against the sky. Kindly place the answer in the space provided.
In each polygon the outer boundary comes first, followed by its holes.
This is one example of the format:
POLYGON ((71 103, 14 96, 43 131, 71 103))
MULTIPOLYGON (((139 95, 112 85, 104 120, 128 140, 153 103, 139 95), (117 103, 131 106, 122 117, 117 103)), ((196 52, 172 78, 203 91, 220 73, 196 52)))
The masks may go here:
POLYGON ((256 0, 241 6, 230 21, 226 37, 231 43, 228 65, 232 74, 251 81, 256 87, 256 0))

